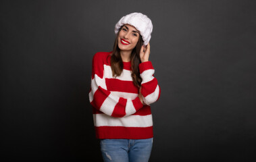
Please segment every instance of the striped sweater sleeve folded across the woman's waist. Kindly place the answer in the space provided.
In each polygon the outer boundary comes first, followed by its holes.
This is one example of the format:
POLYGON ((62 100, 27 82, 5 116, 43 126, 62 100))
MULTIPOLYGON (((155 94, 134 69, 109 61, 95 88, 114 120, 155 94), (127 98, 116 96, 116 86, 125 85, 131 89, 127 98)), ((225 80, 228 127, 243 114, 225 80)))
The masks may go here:
POLYGON ((143 107, 140 99, 125 99, 117 97, 107 90, 104 76, 104 58, 101 53, 93 57, 93 72, 91 78, 91 90, 89 99, 95 109, 112 117, 124 117, 132 115, 143 107))

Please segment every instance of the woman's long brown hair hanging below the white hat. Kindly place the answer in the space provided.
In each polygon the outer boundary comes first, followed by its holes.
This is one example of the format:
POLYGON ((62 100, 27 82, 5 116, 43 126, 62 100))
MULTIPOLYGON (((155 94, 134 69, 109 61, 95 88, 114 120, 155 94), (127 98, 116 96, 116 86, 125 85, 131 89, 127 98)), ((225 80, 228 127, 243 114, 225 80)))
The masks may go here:
MULTIPOLYGON (((116 41, 113 45, 113 52, 111 53, 111 70, 113 77, 120 76, 123 69, 123 61, 120 54, 120 48, 118 47, 118 35, 120 30, 123 28, 123 26, 119 29, 118 34, 116 34, 116 41)), ((132 81, 135 86, 140 87, 140 84, 142 82, 142 79, 140 78, 140 71, 138 70, 138 64, 141 63, 140 61, 140 49, 143 46, 143 38, 139 34, 138 43, 136 47, 132 50, 132 54, 130 55, 130 61, 131 61, 131 69, 132 69, 132 81)))

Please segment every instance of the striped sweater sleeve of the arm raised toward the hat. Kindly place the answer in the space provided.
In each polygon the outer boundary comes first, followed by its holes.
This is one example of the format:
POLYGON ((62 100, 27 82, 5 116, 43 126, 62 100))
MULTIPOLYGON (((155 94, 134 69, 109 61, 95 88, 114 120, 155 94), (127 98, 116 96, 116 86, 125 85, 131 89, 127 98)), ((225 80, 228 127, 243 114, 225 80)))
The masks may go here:
POLYGON ((153 76, 155 70, 151 61, 146 61, 138 65, 140 70, 141 82, 141 94, 143 94, 143 102, 147 105, 154 103, 160 97, 160 87, 157 79, 153 76))

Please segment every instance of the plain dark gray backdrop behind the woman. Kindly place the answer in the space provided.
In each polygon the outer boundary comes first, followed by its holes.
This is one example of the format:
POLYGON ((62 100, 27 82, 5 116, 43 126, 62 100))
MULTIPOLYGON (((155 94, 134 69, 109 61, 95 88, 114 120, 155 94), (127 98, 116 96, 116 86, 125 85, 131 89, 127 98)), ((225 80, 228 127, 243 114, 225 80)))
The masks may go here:
POLYGON ((1 1, 1 159, 101 161, 91 61, 151 18, 151 161, 255 161, 255 1, 1 1))

